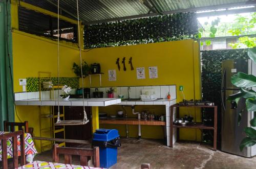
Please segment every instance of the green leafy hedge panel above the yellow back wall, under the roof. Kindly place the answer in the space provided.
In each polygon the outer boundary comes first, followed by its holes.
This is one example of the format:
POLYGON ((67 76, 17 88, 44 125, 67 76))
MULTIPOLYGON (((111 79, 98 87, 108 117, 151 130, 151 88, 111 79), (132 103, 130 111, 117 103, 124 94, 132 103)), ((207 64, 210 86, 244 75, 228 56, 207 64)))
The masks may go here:
POLYGON ((196 13, 176 13, 84 26, 84 48, 192 39, 197 34, 196 13))

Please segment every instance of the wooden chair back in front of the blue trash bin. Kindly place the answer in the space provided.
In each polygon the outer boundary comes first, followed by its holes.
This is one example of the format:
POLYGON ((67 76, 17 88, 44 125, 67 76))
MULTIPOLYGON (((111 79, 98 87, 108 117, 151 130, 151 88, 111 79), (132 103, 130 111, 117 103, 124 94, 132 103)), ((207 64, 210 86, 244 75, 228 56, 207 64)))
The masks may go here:
POLYGON ((80 165, 88 165, 88 157, 93 157, 94 167, 99 167, 99 148, 94 149, 83 149, 83 148, 69 148, 69 147, 58 147, 58 144, 53 146, 53 162, 59 162, 59 154, 64 155, 64 161, 66 164, 72 163, 72 155, 80 156, 80 165))

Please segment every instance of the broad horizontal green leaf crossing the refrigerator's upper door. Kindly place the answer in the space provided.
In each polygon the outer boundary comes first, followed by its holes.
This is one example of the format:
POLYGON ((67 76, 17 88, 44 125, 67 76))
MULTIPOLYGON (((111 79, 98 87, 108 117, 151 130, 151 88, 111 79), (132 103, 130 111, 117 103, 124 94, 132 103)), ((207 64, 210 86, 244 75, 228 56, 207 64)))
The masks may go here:
POLYGON ((247 75, 245 73, 239 72, 231 77, 231 83, 237 87, 255 87, 256 77, 253 75, 247 75))

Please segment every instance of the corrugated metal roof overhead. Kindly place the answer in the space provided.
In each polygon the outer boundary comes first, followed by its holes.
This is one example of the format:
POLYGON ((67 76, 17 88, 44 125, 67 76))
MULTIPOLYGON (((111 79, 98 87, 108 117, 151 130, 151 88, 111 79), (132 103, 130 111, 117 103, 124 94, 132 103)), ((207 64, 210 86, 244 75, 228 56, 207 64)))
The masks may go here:
MULTIPOLYGON (((23 1, 52 12, 57 12, 57 0, 23 1)), ((79 17, 80 20, 90 23, 98 20, 120 19, 120 17, 147 16, 151 10, 145 3, 143 4, 143 1, 162 14, 191 8, 255 2, 250 0, 79 0, 79 17)), ((62 15, 72 18, 76 16, 76 0, 60 0, 59 3, 63 9, 62 15)))

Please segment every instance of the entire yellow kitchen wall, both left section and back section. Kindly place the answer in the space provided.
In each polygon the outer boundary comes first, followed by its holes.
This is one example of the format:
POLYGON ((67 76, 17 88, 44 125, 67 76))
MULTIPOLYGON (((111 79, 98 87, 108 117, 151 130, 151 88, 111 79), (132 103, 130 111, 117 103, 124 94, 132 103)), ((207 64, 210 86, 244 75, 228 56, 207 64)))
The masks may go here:
MULTIPOLYGON (((16 1, 12 1, 16 2, 16 1)), ((40 11, 45 14, 53 13, 21 2, 21 5, 40 11)), ((68 18, 62 18, 68 19, 68 18)), ((70 22, 74 20, 68 19, 70 22)), ((18 85, 18 79, 27 77, 38 77, 38 71, 50 71, 53 77, 57 76, 57 43, 45 37, 17 31, 17 3, 12 3, 12 28, 13 28, 13 75, 14 92, 21 92, 22 86, 18 85)), ((200 55, 198 43, 193 40, 183 40, 174 42, 161 42, 153 44, 140 44, 130 46, 106 47, 93 49, 89 52, 82 52, 82 57, 89 64, 98 62, 104 75, 102 76, 102 86, 138 86, 138 85, 179 85, 184 86, 186 99, 201 98, 201 75, 200 75, 200 55), (120 58, 121 71, 117 70, 116 59, 120 58), (122 70, 121 59, 126 57, 126 71, 122 70), (136 67, 145 67, 146 79, 137 80, 136 70, 131 71, 128 59, 133 57, 133 65, 136 67), (158 79, 148 78, 148 66, 158 66, 158 79), (117 81, 108 81, 108 70, 117 70, 117 81)), ((75 77, 72 70, 72 63, 79 62, 79 51, 74 44, 60 43, 60 77, 75 77)), ((98 78, 92 78, 92 86, 98 87, 98 78)), ((89 80, 86 79, 86 86, 89 87, 89 80)), ((182 94, 178 90, 177 102, 182 100, 182 94)), ((48 111, 45 108, 44 111, 48 111)), ((100 111, 106 111, 115 114, 120 110, 120 106, 111 106, 100 108, 100 111)), ((156 114, 165 112, 164 106, 138 106, 137 111, 150 110, 156 114)), ((39 107, 37 106, 17 106, 15 120, 28 120, 29 126, 34 128, 36 136, 39 135, 39 107)), ((129 116, 131 109, 126 108, 129 116)), ((183 111, 187 113, 187 110, 183 111)), ((191 115, 200 120, 199 110, 190 110, 191 115)), ((46 122, 47 123, 47 122, 46 122)), ((124 125, 101 125, 100 127, 117 128, 122 136, 125 135, 124 125)), ((163 132, 159 126, 142 126, 142 137, 162 138, 163 132)), ((129 126, 130 136, 137 136, 137 126, 129 126)), ((200 140, 200 131, 181 130, 181 139, 200 140)), ((39 149, 39 141, 36 141, 39 149)), ((40 150, 39 150, 40 151, 40 150)))

